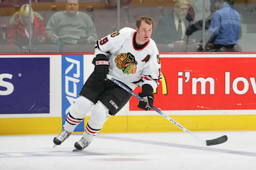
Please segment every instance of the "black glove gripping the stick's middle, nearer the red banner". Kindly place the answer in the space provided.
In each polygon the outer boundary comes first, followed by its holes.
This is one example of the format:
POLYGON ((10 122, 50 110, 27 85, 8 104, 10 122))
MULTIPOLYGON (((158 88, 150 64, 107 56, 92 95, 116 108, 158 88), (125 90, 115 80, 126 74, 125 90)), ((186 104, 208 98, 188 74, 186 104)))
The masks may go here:
POLYGON ((153 107, 153 88, 149 84, 144 84, 139 96, 142 97, 142 100, 139 101, 138 107, 145 111, 149 111, 153 107))

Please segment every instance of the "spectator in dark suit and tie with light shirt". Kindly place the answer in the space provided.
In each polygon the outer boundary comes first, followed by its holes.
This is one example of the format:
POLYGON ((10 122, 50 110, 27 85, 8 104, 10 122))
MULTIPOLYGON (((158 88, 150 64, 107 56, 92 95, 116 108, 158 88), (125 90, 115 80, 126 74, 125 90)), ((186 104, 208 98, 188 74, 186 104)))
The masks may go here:
MULTIPOLYGON (((173 11, 159 19, 158 27, 153 34, 157 44, 167 44, 170 48, 177 43, 181 45, 186 43, 186 28, 194 20, 195 15, 190 1, 173 1, 173 11)), ((190 39, 190 41, 195 40, 190 39)))

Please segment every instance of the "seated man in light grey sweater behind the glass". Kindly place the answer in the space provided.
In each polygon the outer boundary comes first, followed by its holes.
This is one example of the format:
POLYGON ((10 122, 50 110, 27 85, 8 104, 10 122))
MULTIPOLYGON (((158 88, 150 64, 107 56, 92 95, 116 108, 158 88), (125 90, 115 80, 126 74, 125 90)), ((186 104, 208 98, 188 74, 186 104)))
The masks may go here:
POLYGON ((62 47, 72 44, 95 44, 96 30, 90 16, 78 11, 78 0, 68 0, 66 11, 54 13, 47 22, 47 38, 62 47))

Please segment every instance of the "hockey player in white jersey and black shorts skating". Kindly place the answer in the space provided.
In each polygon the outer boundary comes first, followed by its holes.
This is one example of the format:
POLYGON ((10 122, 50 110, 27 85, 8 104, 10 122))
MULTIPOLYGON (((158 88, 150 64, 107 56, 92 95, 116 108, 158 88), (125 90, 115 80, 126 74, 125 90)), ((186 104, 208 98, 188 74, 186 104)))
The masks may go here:
POLYGON ((100 132, 108 115, 117 114, 130 100, 131 94, 106 80, 107 74, 131 90, 140 86, 143 100, 138 107, 146 111, 153 107, 153 91, 161 81, 158 49, 150 38, 153 27, 154 20, 142 16, 136 21, 136 30, 123 28, 97 41, 92 61, 94 71, 67 115, 62 132, 53 139, 55 146, 69 137, 94 106, 82 139, 74 145, 77 150, 83 150, 100 132))

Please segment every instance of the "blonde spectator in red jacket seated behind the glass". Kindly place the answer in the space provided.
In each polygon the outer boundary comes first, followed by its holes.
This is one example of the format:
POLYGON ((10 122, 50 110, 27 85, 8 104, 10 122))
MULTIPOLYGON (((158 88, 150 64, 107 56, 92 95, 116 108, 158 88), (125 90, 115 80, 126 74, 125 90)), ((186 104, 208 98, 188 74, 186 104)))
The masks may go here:
MULTIPOLYGON (((42 16, 31 9, 31 44, 45 43, 46 30, 42 16)), ((15 12, 10 19, 7 33, 7 44, 17 45, 21 51, 29 44, 29 4, 23 4, 19 12, 15 12)))

